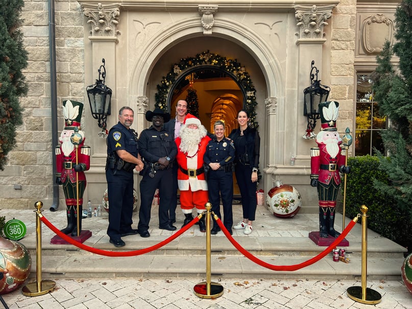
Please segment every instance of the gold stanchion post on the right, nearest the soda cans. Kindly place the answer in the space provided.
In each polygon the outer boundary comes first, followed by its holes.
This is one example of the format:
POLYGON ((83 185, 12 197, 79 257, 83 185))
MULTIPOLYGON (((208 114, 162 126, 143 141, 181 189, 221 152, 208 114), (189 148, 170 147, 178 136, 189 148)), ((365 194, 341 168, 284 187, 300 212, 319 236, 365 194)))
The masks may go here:
POLYGON ((362 212, 362 272, 361 272, 361 287, 350 287, 346 290, 349 298, 354 301, 373 305, 377 304, 382 300, 382 296, 379 292, 366 287, 366 277, 367 277, 367 250, 368 250, 368 226, 367 217, 368 207, 365 205, 360 206, 360 211, 362 212))

